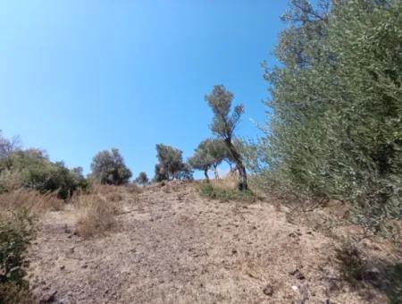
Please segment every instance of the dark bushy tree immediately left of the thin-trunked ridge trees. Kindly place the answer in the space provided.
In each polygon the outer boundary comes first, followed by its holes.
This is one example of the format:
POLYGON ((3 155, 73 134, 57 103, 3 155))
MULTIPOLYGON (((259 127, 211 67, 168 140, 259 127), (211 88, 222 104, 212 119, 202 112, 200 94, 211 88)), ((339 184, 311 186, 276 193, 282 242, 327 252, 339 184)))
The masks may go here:
POLYGON ((179 179, 180 172, 186 169, 183 163, 183 152, 163 144, 156 145, 156 151, 159 164, 155 167, 158 171, 155 176, 167 177, 168 180, 179 179))

